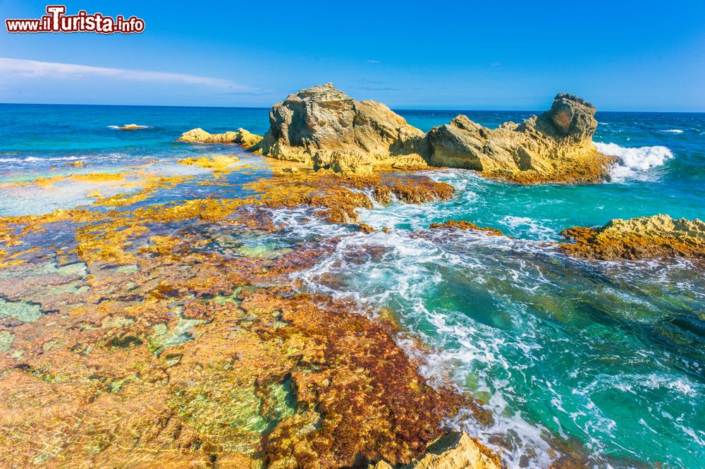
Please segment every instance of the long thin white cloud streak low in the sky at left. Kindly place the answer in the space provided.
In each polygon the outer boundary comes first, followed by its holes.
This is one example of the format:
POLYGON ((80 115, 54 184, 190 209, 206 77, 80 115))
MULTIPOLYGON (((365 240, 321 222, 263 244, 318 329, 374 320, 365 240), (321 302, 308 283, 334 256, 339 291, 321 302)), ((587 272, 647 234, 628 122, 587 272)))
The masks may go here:
POLYGON ((8 78, 18 76, 23 78, 90 78, 103 77, 116 80, 159 82, 159 83, 185 83, 219 88, 228 92, 259 92, 257 88, 238 85, 231 80, 221 78, 208 78, 185 73, 155 72, 142 70, 128 70, 125 68, 105 68, 75 63, 42 62, 25 59, 6 59, 0 57, 0 76, 8 78))

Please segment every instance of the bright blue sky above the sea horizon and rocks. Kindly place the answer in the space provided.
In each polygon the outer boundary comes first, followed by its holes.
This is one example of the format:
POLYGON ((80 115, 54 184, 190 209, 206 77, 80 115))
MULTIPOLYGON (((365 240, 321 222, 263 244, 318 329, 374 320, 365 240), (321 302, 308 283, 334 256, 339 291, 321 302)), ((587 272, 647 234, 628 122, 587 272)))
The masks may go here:
POLYGON ((705 111, 705 0, 71 1, 145 31, 9 34, 0 102, 262 106, 333 82, 393 109, 705 111), (161 5, 160 5, 161 4, 161 5))

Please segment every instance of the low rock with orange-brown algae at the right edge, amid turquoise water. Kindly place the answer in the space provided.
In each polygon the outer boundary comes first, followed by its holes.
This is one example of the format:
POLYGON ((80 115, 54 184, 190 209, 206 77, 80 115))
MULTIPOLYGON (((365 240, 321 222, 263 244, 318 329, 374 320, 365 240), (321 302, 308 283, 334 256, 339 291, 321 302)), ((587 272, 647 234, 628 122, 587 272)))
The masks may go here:
POLYGON ((705 257, 705 222, 668 215, 613 219, 599 229, 574 226, 563 236, 572 243, 560 248, 587 259, 644 259, 650 257, 705 257))

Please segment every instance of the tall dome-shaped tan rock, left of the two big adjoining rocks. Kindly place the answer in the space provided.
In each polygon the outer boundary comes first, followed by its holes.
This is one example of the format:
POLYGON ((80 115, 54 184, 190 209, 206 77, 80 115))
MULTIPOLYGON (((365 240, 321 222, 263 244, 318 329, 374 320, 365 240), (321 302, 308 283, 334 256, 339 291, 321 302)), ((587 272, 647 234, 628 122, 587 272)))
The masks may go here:
POLYGON ((301 90, 269 111, 269 131, 255 150, 336 172, 371 166, 426 166, 424 133, 387 106, 356 101, 332 83, 301 90), (355 160, 359 161, 355 161, 355 160))

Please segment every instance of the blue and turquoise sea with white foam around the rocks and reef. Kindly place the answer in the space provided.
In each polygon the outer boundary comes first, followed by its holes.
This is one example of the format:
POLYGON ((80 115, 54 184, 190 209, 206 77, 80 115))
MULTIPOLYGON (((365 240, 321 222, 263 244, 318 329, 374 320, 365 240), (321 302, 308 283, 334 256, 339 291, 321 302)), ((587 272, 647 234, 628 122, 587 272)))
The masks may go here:
MULTIPOLYGON (((194 127, 264 133, 267 109, 0 104, 0 216, 43 214, 89 204, 89 185, 54 190, 4 183, 69 173, 195 171, 176 164, 239 147, 173 142, 194 127), (136 123, 140 130, 116 130, 136 123), (67 163, 80 161, 75 168, 67 163)), ((422 130, 467 114, 485 126, 522 121, 531 112, 404 111, 422 130)), ((375 231, 275 214, 286 231, 258 242, 317 243, 340 236, 325 260, 298 272, 306 291, 351 298, 374 315, 393 312, 430 379, 470 391, 494 422, 460 413, 448 425, 502 446, 510 467, 546 467, 551 446, 580 447, 595 467, 705 468, 705 265, 687 260, 600 262, 566 257, 551 245, 570 226, 613 218, 705 216, 705 114, 599 112, 594 142, 622 159, 612 181, 596 185, 516 185, 473 171, 437 170, 452 200, 393 203, 360 212, 375 231), (513 238, 429 231, 462 219, 513 238), (509 437, 507 437, 509 435, 509 437), (522 455, 533 455, 527 462, 522 455)), ((266 176, 237 171, 229 182, 266 176)), ((141 203, 204 194, 197 183, 161 190, 141 203)), ((242 191, 244 193, 244 191, 242 191)))

